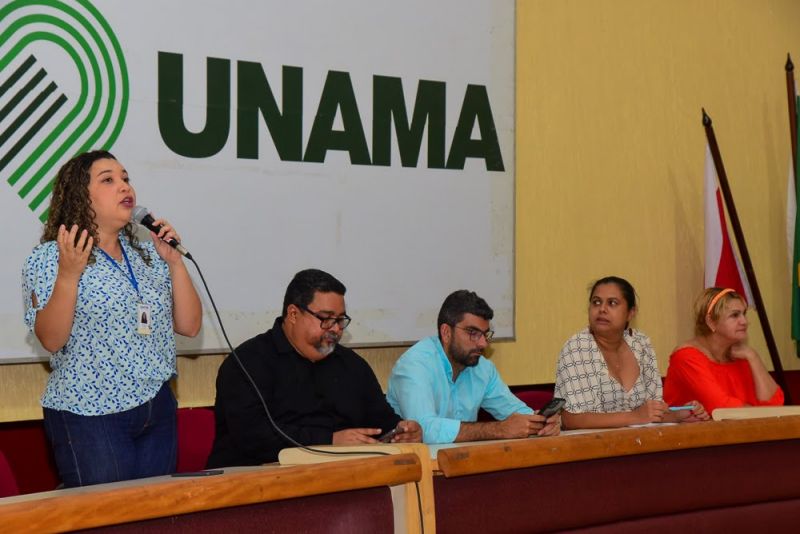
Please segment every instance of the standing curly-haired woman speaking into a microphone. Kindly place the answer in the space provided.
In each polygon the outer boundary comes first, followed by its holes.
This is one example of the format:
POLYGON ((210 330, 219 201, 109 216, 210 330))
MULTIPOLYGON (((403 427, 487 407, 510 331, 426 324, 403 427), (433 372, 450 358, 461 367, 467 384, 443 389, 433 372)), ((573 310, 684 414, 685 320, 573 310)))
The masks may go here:
POLYGON ((52 353, 42 406, 66 487, 168 474, 176 461, 175 336, 202 308, 164 220, 140 243, 136 192, 105 151, 58 172, 41 244, 23 269, 25 322, 52 353))

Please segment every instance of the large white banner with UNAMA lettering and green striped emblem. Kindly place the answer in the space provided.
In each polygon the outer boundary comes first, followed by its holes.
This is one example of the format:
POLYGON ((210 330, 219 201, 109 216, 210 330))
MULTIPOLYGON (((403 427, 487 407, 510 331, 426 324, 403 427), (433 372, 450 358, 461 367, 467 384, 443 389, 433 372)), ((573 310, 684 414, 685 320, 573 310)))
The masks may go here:
MULTIPOLYGON (((0 361, 47 357, 20 272, 94 148, 181 233, 234 344, 307 267, 347 286, 345 343, 431 335, 460 288, 513 336, 513 0, 7 3, 0 361)), ((179 349, 225 352, 204 305, 179 349)))

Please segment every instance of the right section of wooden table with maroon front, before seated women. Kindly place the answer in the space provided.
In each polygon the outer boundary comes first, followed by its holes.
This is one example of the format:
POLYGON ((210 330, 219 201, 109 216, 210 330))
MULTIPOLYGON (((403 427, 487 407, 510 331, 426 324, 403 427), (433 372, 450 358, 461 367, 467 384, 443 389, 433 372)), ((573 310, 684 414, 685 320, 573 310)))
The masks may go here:
POLYGON ((437 451, 437 531, 796 531, 800 416, 437 451))

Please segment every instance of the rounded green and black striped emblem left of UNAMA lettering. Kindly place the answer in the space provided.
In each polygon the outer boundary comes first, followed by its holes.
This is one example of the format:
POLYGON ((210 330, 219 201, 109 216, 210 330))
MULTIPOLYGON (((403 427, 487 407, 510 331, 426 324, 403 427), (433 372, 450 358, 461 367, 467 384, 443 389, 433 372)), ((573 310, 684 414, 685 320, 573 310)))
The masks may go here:
POLYGON ((59 166, 114 144, 128 92, 122 49, 90 2, 0 8, 0 178, 39 219, 59 166))

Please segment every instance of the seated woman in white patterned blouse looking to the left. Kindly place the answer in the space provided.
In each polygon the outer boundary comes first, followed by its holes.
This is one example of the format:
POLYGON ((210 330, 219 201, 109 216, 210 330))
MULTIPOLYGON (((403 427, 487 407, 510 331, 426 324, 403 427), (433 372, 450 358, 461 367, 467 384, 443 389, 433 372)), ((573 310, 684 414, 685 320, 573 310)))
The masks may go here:
POLYGON ((616 276, 595 282, 589 327, 572 336, 558 358, 555 396, 567 403, 565 428, 611 428, 708 419, 697 402, 670 411, 661 399, 661 375, 650 339, 630 328, 636 292, 616 276))

